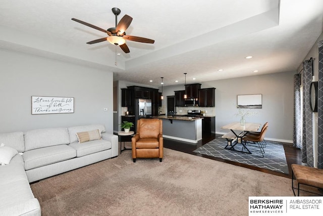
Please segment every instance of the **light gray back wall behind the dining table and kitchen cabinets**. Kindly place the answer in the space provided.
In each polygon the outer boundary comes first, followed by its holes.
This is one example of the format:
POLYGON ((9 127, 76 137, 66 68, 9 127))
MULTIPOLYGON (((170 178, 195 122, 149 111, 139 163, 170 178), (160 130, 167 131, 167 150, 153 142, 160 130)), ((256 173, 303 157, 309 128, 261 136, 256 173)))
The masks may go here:
MULTIPOLYGON (((269 122, 266 138, 283 142, 293 140, 294 82, 295 72, 264 74, 232 79, 214 80, 201 83, 201 88, 216 88, 216 132, 226 133, 221 126, 239 121, 237 95, 262 94, 262 109, 257 116, 246 117, 246 121, 263 124, 269 122)), ((164 87, 164 95, 174 95, 173 91, 184 90, 184 86, 164 87)), ((167 106, 163 101, 163 106, 167 106)), ((203 109, 200 107, 200 109, 203 109)))

